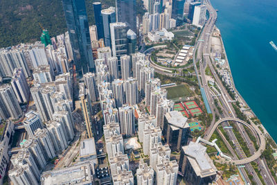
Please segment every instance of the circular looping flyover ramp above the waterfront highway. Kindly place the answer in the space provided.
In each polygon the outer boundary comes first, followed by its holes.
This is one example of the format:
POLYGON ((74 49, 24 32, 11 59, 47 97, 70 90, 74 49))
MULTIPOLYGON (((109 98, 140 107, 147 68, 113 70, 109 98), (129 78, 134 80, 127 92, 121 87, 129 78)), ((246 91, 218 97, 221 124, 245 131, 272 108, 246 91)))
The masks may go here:
POLYGON ((209 140, 211 138, 211 136, 212 136, 213 132, 215 132, 215 129, 217 128, 217 126, 220 125, 224 121, 237 121, 238 123, 242 123, 243 125, 249 127, 252 131, 255 130, 255 132, 258 134, 259 139, 260 139, 260 148, 251 157, 247 157, 245 159, 234 160, 234 161, 230 161, 230 162, 232 164, 240 165, 240 164, 247 164, 247 163, 250 163, 251 161, 255 161, 256 159, 258 159, 260 157, 260 155, 262 155, 262 151, 265 150, 265 136, 262 134, 260 129, 253 123, 251 123, 251 125, 249 125, 245 121, 242 121, 238 118, 222 118, 219 121, 217 121, 215 123, 215 125, 213 125, 211 132, 206 136, 206 140, 209 140))

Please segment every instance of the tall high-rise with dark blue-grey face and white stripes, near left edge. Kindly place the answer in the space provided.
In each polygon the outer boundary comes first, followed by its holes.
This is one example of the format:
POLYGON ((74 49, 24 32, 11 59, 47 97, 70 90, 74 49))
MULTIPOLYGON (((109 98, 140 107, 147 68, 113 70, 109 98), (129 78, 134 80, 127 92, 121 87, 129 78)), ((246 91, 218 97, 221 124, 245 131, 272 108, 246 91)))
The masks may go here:
POLYGON ((16 68, 12 80, 10 81, 13 91, 20 103, 28 102, 30 96, 30 89, 21 68, 16 68))

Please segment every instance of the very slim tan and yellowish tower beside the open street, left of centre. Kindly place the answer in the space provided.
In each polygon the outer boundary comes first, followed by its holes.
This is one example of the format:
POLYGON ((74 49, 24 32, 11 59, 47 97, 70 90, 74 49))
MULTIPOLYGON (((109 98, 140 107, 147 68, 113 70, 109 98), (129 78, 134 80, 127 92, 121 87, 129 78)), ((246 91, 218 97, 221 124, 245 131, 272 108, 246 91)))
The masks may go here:
POLYGON ((89 103, 90 100, 88 100, 89 96, 84 87, 84 83, 79 84, 79 98, 80 98, 80 107, 82 109, 82 114, 84 116, 84 121, 86 123, 87 137, 92 138, 93 132, 92 132, 91 124, 92 124, 93 112, 91 110, 91 105, 89 103))

